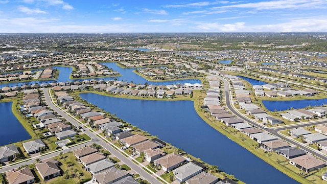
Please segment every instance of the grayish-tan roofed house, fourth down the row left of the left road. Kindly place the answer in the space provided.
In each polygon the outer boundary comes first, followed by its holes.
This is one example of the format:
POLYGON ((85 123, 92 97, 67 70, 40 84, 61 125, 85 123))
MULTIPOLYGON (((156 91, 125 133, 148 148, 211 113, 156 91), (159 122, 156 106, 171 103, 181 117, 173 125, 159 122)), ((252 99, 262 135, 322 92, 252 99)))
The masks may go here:
POLYGON ((94 174, 93 180, 99 184, 111 184, 127 176, 129 176, 129 173, 126 170, 119 170, 111 167, 105 171, 94 174))

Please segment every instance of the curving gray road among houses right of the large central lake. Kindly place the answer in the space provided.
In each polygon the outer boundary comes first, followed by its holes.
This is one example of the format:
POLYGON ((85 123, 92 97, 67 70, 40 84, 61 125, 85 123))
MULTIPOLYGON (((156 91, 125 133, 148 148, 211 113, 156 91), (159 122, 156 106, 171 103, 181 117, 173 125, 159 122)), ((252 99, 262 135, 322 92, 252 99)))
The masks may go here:
MULTIPOLYGON (((262 124, 260 124, 258 122, 255 122, 255 121, 253 121, 253 120, 245 117, 242 113, 240 113, 239 111, 235 110, 232 107, 232 105, 231 105, 232 102, 230 101, 230 96, 229 96, 229 89, 230 88, 229 88, 228 81, 226 81, 226 79, 223 79, 223 78, 220 78, 220 79, 224 82, 226 105, 227 105, 228 109, 232 113, 236 114, 236 116, 238 116, 240 119, 244 120, 245 122, 249 122, 249 123, 251 123, 251 124, 253 124, 253 125, 255 125, 255 126, 257 126, 257 127, 261 128, 261 129, 265 130, 266 132, 269 132, 269 133, 271 133, 271 134, 273 134, 273 135, 275 135, 275 136, 277 136, 277 137, 279 137, 281 139, 285 139, 287 142, 289 142, 289 143, 291 143, 291 144, 293 144, 295 146, 298 146, 299 148, 301 148, 301 149, 303 149, 303 150, 305 150, 305 151, 307 151, 309 153, 312 153, 315 156, 317 156, 317 157, 319 157, 319 158, 321 158, 321 159, 323 159, 325 161, 327 160, 327 157, 324 156, 323 154, 321 154, 319 151, 309 149, 304 144, 298 143, 298 142, 290 139, 287 136, 283 136, 283 135, 279 134, 278 133, 278 129, 267 128, 266 126, 263 126, 262 124)), ((315 124, 315 123, 313 123, 313 124, 315 124)), ((316 124, 321 124, 321 122, 318 122, 316 124)), ((293 127, 306 127, 306 126, 308 126, 308 124, 295 125, 295 126, 292 126, 292 128, 293 127)), ((282 128, 282 130, 285 130, 285 128, 282 128)))

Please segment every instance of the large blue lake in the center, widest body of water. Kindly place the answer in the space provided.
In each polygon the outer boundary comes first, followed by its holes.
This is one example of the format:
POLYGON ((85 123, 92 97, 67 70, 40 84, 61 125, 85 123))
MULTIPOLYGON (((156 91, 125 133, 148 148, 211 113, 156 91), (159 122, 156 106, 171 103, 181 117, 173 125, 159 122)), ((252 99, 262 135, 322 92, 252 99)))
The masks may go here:
POLYGON ((206 124, 193 101, 132 100, 91 93, 80 96, 246 183, 298 183, 206 124))

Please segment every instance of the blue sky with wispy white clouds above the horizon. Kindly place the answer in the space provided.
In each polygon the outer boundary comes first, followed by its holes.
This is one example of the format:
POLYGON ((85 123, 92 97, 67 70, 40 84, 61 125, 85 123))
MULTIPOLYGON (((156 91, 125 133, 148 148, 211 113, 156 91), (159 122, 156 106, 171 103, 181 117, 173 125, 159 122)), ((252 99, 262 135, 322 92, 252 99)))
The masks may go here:
POLYGON ((0 0, 0 33, 327 31, 327 0, 0 0))

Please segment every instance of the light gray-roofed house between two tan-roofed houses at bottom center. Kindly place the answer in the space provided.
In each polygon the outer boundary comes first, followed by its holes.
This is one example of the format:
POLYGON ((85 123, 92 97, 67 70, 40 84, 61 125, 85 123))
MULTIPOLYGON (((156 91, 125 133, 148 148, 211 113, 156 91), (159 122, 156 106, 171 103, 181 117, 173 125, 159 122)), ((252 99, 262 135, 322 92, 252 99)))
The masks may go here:
POLYGON ((200 174, 202 172, 202 167, 190 162, 177 169, 173 170, 176 180, 179 182, 184 182, 191 177, 200 174))

